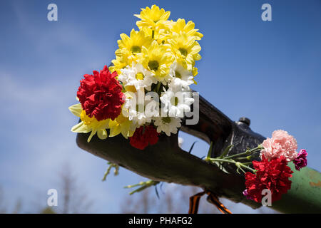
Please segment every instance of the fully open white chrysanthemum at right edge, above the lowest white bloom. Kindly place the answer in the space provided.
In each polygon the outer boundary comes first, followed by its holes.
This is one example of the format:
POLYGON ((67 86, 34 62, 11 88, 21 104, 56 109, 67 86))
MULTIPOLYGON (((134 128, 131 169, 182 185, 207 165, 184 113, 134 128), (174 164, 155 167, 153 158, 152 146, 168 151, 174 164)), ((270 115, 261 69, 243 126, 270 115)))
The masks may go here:
POLYGON ((180 83, 180 79, 173 78, 168 84, 168 90, 161 95, 162 113, 168 113, 168 116, 183 118, 185 112, 190 112, 190 105, 193 104, 194 98, 191 98, 189 90, 185 90, 180 83))

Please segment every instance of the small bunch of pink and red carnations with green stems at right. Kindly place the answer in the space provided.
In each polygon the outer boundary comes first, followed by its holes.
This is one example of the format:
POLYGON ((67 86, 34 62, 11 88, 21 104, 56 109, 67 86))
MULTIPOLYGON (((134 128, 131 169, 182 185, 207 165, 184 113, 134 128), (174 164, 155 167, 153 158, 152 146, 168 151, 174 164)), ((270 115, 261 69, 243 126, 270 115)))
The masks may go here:
POLYGON ((236 171, 245 175, 243 195, 258 203, 263 199, 263 190, 270 190, 271 202, 281 199, 290 190, 293 171, 288 166, 289 162, 293 162, 298 171, 307 166, 307 151, 302 149, 297 152, 297 140, 285 130, 275 130, 272 138, 267 138, 258 147, 226 156, 231 147, 227 147, 220 157, 211 158, 208 155, 205 160, 219 167, 223 163, 234 164, 236 171), (260 152, 260 161, 253 160, 256 152, 260 152))

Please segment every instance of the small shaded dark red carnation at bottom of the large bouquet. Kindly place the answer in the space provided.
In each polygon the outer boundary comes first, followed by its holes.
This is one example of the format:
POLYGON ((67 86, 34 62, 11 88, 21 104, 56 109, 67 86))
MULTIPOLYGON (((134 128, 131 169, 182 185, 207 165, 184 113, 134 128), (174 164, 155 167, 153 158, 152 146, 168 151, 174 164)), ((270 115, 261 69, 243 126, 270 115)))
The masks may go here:
POLYGON ((154 145, 158 142, 158 133, 153 125, 141 126, 141 128, 135 130, 135 133, 129 139, 133 147, 144 150, 148 144, 154 145))

